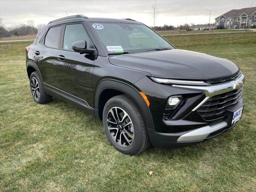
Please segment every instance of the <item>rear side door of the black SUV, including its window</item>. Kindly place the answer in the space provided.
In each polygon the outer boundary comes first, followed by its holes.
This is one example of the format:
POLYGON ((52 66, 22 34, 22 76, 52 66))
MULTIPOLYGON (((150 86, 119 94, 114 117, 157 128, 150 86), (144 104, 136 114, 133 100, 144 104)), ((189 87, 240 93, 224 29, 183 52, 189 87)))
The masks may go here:
POLYGON ((53 87, 58 86, 56 55, 60 45, 61 32, 62 25, 49 28, 44 40, 34 49, 34 61, 40 70, 42 80, 45 84, 53 87))

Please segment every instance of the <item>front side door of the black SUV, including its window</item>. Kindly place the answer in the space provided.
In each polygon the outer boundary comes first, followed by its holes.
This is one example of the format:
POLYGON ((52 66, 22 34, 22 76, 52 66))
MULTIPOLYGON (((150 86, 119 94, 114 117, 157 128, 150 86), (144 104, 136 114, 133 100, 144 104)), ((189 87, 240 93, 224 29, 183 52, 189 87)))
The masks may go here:
POLYGON ((88 54, 80 54, 72 50, 72 44, 80 40, 86 40, 88 48, 92 44, 82 23, 63 26, 60 50, 57 53, 60 61, 57 65, 60 90, 68 93, 70 99, 93 106, 94 60, 88 54))

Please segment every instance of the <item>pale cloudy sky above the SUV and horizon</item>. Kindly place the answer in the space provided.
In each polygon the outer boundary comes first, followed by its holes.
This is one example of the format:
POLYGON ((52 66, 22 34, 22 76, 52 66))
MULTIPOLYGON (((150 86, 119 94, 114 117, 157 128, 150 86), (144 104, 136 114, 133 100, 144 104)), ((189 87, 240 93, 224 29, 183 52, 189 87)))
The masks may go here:
MULTIPOLYGON (((153 26, 150 17, 154 0, 0 0, 1 25, 27 23, 47 24, 51 20, 83 14, 87 17, 132 18, 153 26), (67 14, 66 14, 67 12, 67 14)), ((156 0, 159 14, 156 26, 164 24, 214 23, 217 16, 232 9, 250 7, 255 0, 156 0)))

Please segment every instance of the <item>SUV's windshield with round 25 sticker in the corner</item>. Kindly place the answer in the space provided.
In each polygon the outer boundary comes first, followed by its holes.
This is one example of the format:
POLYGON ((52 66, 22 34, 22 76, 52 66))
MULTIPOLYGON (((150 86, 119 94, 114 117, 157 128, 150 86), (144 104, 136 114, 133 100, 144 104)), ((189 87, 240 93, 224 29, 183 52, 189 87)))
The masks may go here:
POLYGON ((143 24, 91 22, 108 54, 173 49, 173 47, 143 24))

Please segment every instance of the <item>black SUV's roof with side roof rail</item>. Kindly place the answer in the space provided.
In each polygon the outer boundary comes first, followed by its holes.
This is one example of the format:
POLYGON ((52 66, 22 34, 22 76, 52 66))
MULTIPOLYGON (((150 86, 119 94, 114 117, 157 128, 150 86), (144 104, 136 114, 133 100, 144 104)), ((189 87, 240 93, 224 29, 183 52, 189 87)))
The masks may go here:
POLYGON ((40 30, 46 30, 47 28, 59 24, 66 24, 72 22, 111 22, 111 23, 129 23, 129 24, 142 24, 141 22, 137 22, 135 20, 125 18, 125 19, 114 19, 114 18, 88 18, 84 15, 73 15, 67 16, 63 18, 59 18, 53 21, 50 21, 47 25, 42 26, 40 30))

